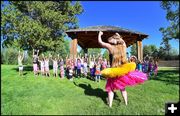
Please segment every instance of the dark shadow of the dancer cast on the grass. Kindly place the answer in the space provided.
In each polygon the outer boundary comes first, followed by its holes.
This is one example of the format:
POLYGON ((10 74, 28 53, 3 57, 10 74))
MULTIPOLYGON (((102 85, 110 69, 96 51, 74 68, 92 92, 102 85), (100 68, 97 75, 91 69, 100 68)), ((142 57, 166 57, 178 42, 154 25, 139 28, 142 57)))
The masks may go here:
MULTIPOLYGON (((84 89, 84 94, 85 95, 99 97, 99 98, 101 98, 101 100, 105 104, 107 104, 107 101, 106 101, 106 98, 108 97, 107 92, 103 91, 100 88, 93 89, 90 84, 88 84, 88 85, 86 85, 86 84, 78 84, 77 85, 75 82, 73 82, 73 83, 74 83, 74 85, 84 89)), ((119 97, 117 96, 117 94, 115 92, 114 92, 114 99, 119 100, 121 102, 121 100, 119 99, 119 97)))

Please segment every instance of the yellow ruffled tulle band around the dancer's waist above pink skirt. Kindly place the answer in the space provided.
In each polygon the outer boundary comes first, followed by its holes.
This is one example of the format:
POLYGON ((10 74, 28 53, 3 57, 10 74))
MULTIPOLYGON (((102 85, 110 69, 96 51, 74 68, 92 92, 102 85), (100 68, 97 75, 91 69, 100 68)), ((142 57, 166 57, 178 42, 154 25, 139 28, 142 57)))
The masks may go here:
POLYGON ((123 76, 130 71, 134 71, 136 69, 136 64, 134 62, 126 63, 116 68, 106 68, 101 71, 101 75, 105 78, 116 78, 119 76, 123 76))

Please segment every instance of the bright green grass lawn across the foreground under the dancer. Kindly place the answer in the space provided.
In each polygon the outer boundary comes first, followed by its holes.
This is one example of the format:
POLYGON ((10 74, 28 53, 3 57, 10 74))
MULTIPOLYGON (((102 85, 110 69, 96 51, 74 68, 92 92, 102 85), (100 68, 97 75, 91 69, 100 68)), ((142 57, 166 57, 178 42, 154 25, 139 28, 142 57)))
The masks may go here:
MULTIPOLYGON (((1 114, 164 115, 165 102, 179 100, 179 71, 160 68, 157 78, 127 87, 128 105, 116 91, 112 108, 106 104, 105 80, 69 81, 34 77, 30 67, 23 77, 14 65, 1 65, 1 114)), ((52 70, 51 70, 52 71, 52 70)))

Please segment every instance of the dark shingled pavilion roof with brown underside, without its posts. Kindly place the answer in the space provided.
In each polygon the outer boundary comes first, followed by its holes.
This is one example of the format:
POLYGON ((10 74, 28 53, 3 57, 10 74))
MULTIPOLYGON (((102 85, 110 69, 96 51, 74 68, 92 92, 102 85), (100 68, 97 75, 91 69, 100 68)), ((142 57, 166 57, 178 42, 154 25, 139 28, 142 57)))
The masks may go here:
POLYGON ((115 33, 119 33, 121 36, 123 36, 127 46, 132 45, 136 41, 142 41, 148 37, 147 34, 116 26, 90 26, 86 28, 70 29, 66 31, 66 33, 69 37, 71 37, 71 39, 76 38, 78 44, 82 48, 101 48, 101 46, 98 44, 99 31, 103 32, 102 40, 104 42, 107 42, 107 39, 110 36, 114 35, 115 33))

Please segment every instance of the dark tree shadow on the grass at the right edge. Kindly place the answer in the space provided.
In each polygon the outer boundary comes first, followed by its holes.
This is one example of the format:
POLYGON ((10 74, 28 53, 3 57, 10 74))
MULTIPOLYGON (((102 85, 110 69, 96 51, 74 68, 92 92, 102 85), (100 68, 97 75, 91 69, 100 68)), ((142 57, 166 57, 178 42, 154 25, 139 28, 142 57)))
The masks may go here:
POLYGON ((162 81, 166 84, 179 85, 179 70, 160 70, 157 76, 151 76, 150 80, 162 81))

